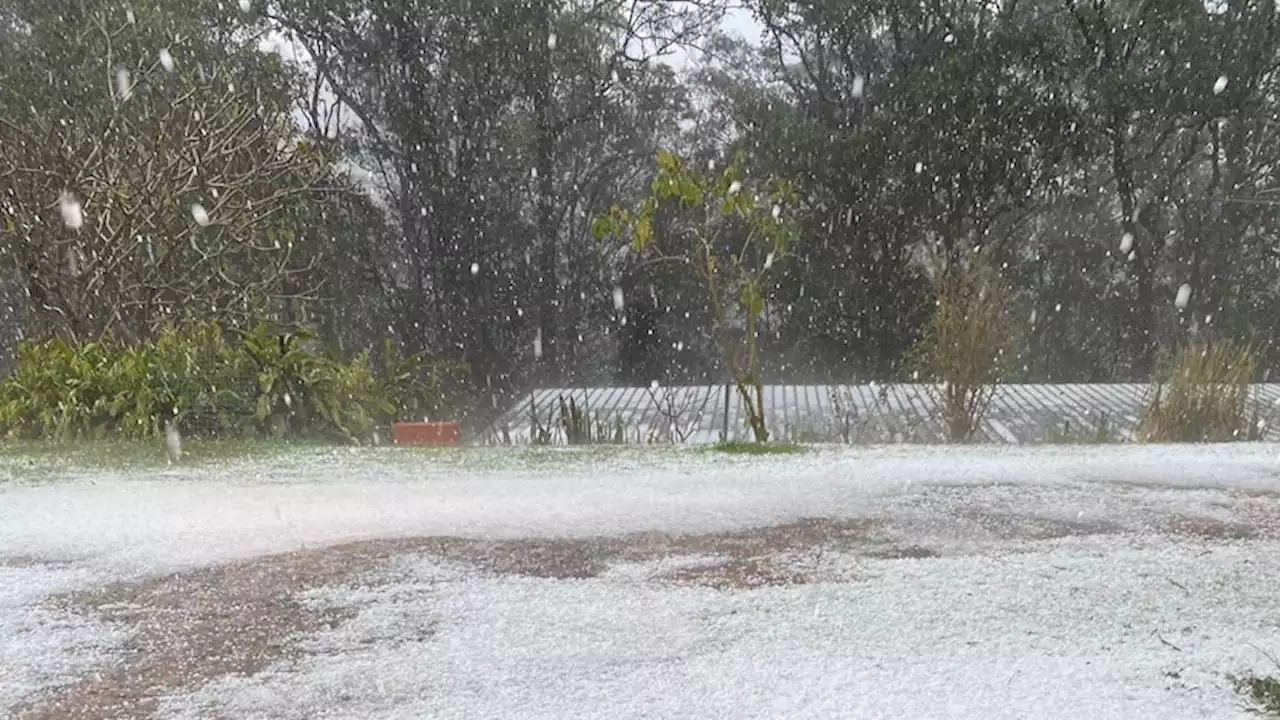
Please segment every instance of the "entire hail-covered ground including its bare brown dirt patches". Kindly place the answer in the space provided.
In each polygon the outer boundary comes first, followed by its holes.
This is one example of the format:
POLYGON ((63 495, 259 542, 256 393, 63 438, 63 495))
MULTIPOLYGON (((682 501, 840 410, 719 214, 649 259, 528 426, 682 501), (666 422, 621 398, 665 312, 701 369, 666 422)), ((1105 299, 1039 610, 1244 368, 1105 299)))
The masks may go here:
POLYGON ((1277 577, 1265 445, 5 457, 0 715, 1247 717, 1277 577))

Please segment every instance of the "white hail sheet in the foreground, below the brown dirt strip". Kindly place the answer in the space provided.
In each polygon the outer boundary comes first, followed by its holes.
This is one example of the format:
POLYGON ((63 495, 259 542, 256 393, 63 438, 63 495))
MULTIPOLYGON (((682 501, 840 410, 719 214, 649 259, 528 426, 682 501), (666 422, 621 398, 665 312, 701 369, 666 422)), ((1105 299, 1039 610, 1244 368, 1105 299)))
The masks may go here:
MULTIPOLYGON (((1057 541, 876 560, 864 582, 724 593, 484 578, 422 561, 314 655, 170 717, 1243 717, 1225 667, 1280 642, 1249 547, 1057 541), (1183 578, 1181 589, 1169 582, 1183 578), (1187 584, 1190 583, 1190 584, 1187 584), (1174 650, 1164 641, 1176 646, 1174 650)), ((317 598, 319 600, 319 598, 317 598)))

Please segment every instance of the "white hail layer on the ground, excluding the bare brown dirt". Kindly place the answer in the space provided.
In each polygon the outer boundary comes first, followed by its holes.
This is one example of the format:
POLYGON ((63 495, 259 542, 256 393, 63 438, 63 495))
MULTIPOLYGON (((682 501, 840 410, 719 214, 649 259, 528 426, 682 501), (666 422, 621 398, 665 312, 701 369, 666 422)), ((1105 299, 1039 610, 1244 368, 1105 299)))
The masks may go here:
POLYGON ((0 484, 0 708, 110 660, 123 630, 36 607, 54 592, 349 539, 709 533, 803 516, 891 519, 943 556, 826 557, 827 582, 737 592, 671 585, 652 566, 548 580, 406 559, 375 589, 312 593, 361 611, 300 638, 302 660, 170 698, 166 712, 1242 717, 1222 674, 1266 669, 1262 651, 1280 650, 1277 536, 1147 532, 1172 514, 1274 523, 1280 500, 1235 492, 1280 493, 1271 446, 566 456, 317 451, 0 484), (1126 532, 1009 541, 954 521, 974 507, 1126 532))

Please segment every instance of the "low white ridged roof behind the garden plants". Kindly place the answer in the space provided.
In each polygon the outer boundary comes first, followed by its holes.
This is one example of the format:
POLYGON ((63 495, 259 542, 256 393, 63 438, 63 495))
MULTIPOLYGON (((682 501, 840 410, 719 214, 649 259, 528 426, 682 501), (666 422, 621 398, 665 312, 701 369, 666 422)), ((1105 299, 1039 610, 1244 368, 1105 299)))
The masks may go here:
MULTIPOLYGON (((1151 398, 1148 383, 1005 384, 996 391, 978 441, 1023 445, 1053 441, 1132 441, 1151 398)), ((626 442, 750 439, 741 398, 728 386, 543 388, 524 396, 484 433, 484 442, 529 443, 538 425, 566 442, 559 401, 593 418, 595 429, 626 442), (728 396, 726 406, 726 393, 728 396)), ((1280 439, 1280 383, 1253 386, 1249 409, 1263 439, 1280 439)), ((929 386, 764 386, 773 439, 803 442, 942 442, 929 386)))

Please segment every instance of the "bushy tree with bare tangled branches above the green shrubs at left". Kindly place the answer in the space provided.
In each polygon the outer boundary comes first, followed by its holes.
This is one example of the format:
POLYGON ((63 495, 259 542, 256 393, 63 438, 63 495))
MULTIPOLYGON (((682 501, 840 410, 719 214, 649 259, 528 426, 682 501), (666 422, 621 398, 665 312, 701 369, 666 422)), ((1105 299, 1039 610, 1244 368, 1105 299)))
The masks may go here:
POLYGON ((338 186, 298 141, 279 61, 211 47, 216 28, 191 23, 165 42, 173 8, 56 9, 6 36, 0 91, 0 213, 40 324, 140 338, 310 297, 297 213, 338 186))

